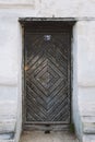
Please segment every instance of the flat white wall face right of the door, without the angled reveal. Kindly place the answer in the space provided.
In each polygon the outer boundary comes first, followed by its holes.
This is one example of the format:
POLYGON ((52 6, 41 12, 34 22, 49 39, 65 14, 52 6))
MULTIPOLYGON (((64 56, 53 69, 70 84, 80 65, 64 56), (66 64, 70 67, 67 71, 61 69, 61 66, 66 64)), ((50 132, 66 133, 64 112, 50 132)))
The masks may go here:
POLYGON ((81 128, 83 133, 92 134, 95 133, 95 21, 80 21, 76 26, 78 103, 81 128))

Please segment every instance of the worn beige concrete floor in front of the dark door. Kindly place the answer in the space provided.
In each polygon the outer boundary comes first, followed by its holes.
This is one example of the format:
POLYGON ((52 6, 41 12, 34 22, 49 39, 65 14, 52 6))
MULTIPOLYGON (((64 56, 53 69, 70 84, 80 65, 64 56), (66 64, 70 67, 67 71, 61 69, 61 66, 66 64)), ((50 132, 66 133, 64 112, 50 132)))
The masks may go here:
POLYGON ((79 142, 73 133, 67 131, 50 132, 25 131, 22 133, 20 142, 79 142))

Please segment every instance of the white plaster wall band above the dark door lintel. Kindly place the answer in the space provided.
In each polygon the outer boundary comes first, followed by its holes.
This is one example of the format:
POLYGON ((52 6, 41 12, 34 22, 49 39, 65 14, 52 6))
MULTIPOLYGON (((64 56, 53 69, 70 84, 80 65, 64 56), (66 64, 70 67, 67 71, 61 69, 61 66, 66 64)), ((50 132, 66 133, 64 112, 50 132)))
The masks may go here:
POLYGON ((23 14, 28 16, 28 11, 31 16, 94 17, 95 15, 95 0, 0 0, 0 10, 9 11, 9 8, 13 9, 13 13, 17 12, 17 9, 22 16, 23 14))

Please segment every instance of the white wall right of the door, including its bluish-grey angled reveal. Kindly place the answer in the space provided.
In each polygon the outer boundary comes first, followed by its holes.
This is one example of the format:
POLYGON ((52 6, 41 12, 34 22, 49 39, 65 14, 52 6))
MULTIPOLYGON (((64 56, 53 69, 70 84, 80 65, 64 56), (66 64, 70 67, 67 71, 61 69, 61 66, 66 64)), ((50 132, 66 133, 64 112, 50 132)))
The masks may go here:
POLYGON ((95 133, 95 21, 75 23, 72 59, 73 121, 76 134, 82 140, 84 133, 95 133))

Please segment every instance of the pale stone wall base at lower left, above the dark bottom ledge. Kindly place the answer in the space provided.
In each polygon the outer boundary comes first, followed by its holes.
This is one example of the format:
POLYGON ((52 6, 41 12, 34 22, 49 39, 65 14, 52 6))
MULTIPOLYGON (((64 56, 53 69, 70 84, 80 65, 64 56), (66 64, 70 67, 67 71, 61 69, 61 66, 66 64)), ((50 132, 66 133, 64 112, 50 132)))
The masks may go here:
POLYGON ((0 133, 13 132, 16 123, 16 105, 13 100, 0 100, 0 133))

